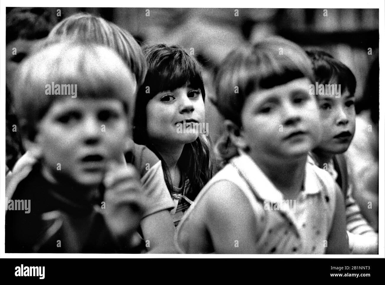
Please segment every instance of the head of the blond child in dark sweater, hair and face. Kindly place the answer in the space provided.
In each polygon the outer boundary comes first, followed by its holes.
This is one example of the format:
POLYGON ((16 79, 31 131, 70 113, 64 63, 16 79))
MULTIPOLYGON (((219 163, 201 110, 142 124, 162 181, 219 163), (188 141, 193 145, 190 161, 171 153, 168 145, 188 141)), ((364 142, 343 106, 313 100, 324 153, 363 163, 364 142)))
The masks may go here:
POLYGON ((134 74, 114 51, 74 42, 45 47, 18 73, 14 99, 26 148, 51 180, 98 185, 132 134, 134 74))

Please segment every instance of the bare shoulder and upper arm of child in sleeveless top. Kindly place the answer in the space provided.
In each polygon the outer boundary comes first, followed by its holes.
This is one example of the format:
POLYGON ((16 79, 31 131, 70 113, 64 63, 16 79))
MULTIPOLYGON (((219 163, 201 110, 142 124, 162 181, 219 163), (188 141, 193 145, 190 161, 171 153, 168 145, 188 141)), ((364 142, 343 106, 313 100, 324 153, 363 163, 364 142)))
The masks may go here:
MULTIPOLYGON (((235 183, 219 180, 204 190, 196 202, 179 228, 177 240, 182 252, 230 253, 234 240, 245 238, 253 243, 256 232, 253 209, 235 183)), ((243 244, 246 248, 246 242, 243 244)))

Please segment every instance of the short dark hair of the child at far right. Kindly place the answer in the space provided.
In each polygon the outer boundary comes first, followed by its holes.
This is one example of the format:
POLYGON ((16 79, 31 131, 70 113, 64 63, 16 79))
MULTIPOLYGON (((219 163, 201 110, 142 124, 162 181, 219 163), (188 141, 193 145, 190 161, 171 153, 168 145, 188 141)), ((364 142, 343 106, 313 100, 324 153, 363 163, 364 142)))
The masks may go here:
POLYGON ((356 92, 356 77, 345 64, 322 50, 306 50, 313 63, 318 84, 341 84, 341 93, 347 89, 351 95, 356 92))

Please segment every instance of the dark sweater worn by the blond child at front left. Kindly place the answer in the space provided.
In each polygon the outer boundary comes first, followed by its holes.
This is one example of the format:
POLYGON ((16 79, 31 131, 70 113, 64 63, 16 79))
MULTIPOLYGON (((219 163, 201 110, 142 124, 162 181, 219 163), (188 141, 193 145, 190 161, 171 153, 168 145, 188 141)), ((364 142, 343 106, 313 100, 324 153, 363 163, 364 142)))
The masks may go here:
POLYGON ((118 246, 98 211, 104 187, 88 199, 80 191, 84 190, 48 182, 40 163, 34 165, 12 195, 13 201, 30 200, 30 212, 7 210, 5 252, 132 252, 118 246))

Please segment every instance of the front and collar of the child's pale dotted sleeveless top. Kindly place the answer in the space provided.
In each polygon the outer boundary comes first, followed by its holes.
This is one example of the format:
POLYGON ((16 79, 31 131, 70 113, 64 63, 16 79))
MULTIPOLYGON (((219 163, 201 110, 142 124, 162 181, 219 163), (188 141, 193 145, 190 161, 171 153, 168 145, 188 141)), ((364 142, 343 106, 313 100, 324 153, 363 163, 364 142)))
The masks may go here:
POLYGON ((235 158, 231 166, 247 184, 240 188, 252 192, 264 205, 263 210, 258 207, 254 211, 259 220, 264 220, 264 230, 256 245, 257 253, 325 253, 335 210, 335 183, 326 171, 307 163, 304 188, 290 201, 284 200, 247 155, 235 158), (275 204, 280 206, 271 206, 275 204))

